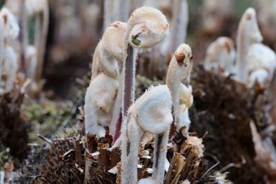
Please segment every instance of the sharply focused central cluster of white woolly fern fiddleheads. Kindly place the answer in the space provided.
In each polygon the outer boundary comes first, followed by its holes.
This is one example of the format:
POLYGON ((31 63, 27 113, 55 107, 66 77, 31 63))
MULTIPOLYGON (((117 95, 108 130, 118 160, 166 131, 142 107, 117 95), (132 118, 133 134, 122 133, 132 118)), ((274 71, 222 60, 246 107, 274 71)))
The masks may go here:
POLYGON ((167 34, 164 14, 141 7, 132 12, 127 23, 117 21, 108 26, 95 50, 84 105, 86 135, 99 138, 108 131, 116 139, 121 132, 122 183, 137 182, 137 157, 144 132, 155 134, 153 183, 163 183, 173 119, 173 128, 188 136, 188 108, 193 95, 191 86, 181 82, 190 81, 193 55, 189 45, 179 45, 173 54, 166 85, 150 87, 134 99, 137 50, 157 45, 167 34), (124 120, 122 125, 119 116, 124 120))

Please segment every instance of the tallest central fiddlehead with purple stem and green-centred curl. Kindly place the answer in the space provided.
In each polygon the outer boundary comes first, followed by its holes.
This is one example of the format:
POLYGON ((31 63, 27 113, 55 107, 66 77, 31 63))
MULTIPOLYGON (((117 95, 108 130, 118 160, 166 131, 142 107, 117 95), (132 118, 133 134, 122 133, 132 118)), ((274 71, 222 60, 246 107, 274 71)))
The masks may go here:
MULTIPOLYGON (((159 10, 150 7, 137 8, 128 19, 124 35, 124 67, 122 73, 122 116, 135 97, 135 65, 138 48, 151 48, 168 34, 168 21, 159 10)), ((119 137, 121 122, 118 122, 115 140, 119 137)))

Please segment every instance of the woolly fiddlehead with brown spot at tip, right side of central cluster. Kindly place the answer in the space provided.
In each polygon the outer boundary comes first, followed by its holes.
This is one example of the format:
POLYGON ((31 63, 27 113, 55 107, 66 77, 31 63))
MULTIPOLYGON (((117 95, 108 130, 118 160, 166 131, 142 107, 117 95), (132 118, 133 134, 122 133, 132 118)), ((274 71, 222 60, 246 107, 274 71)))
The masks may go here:
MULTIPOLYGON (((179 45, 175 54, 172 56, 168 73, 166 76, 166 85, 172 95, 172 107, 175 120, 179 114, 179 87, 181 81, 190 81, 190 71, 193 67, 193 54, 189 45, 182 43, 179 45)), ((176 123, 176 126, 179 125, 176 123)))

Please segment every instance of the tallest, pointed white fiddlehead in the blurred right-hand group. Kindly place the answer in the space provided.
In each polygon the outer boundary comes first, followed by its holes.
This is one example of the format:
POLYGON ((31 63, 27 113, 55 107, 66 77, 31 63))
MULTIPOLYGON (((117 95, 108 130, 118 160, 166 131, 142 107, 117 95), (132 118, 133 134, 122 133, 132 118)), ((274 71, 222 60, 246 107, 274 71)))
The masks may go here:
POLYGON ((237 30, 237 80, 246 82, 248 67, 246 56, 248 48, 253 43, 262 42, 262 34, 259 31, 254 8, 248 8, 242 15, 237 30))

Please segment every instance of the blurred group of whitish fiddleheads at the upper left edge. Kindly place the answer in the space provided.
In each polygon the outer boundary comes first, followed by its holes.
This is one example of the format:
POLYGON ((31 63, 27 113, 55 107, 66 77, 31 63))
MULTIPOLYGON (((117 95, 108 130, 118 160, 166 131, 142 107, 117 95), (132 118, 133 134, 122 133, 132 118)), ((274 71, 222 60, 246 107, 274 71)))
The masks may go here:
POLYGON ((47 0, 8 0, 0 16, 0 94, 10 92, 19 69, 36 90, 42 72, 48 32, 47 0), (34 17, 34 43, 30 43, 28 20, 34 17), (19 36, 21 23, 21 40, 19 36))

